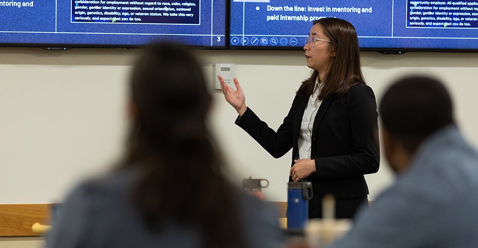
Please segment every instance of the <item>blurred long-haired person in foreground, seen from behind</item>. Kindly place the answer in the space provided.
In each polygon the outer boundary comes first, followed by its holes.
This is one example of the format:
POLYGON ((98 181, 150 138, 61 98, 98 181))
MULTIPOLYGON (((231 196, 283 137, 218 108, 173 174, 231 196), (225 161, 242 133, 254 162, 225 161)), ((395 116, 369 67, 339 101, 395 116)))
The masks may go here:
POLYGON ((129 84, 125 158, 69 194, 46 247, 280 247, 274 209, 224 175, 208 86, 191 52, 147 47, 129 84))

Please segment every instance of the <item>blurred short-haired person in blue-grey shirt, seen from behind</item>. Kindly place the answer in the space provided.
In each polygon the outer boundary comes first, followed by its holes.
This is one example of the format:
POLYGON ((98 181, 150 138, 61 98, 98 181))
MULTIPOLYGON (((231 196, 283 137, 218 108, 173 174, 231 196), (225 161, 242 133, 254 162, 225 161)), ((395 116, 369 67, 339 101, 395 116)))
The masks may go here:
POLYGON ((332 247, 478 247, 478 153, 454 122, 447 89, 434 78, 405 77, 379 111, 398 177, 332 247))

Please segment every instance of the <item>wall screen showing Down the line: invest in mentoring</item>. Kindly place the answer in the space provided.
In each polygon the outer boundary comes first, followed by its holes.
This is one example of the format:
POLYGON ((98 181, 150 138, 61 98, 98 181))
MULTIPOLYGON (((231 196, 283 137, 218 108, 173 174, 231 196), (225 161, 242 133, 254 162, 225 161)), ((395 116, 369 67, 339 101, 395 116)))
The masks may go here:
POLYGON ((302 49, 312 22, 348 20, 362 51, 478 52, 478 0, 230 0, 232 49, 302 49))

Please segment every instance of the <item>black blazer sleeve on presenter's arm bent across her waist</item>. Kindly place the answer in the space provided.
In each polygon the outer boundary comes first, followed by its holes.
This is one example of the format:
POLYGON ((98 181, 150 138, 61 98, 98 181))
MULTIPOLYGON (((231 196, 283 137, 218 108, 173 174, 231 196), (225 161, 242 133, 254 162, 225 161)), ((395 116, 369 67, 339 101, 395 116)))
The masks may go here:
POLYGON ((352 140, 351 152, 332 157, 316 157, 319 178, 350 177, 378 171, 380 153, 375 95, 369 86, 359 84, 353 86, 344 97, 348 98, 351 137, 343 138, 352 140))

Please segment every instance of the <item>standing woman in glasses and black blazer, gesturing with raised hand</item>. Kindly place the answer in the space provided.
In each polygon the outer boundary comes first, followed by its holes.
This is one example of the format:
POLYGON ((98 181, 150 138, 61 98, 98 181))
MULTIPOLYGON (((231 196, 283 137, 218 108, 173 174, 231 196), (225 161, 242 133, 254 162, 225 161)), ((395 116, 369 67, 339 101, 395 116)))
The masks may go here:
POLYGON ((234 90, 218 77, 239 114, 237 125, 274 158, 292 148, 289 182, 309 181, 313 187, 309 218, 322 217, 326 194, 336 198, 337 218, 352 218, 367 201, 363 175, 379 166, 375 95, 362 76, 357 32, 342 19, 316 20, 304 50, 311 76, 302 82, 277 131, 246 106, 237 78, 234 90))

